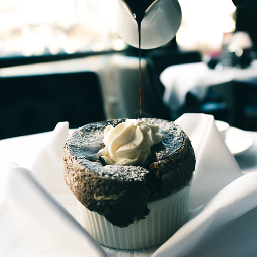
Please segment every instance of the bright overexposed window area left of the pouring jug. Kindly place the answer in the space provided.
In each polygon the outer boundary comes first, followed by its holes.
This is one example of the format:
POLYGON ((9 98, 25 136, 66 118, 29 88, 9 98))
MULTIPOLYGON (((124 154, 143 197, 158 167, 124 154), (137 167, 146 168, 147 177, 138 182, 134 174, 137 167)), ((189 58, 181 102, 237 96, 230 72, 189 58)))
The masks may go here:
POLYGON ((122 50, 116 0, 0 0, 0 57, 122 50))

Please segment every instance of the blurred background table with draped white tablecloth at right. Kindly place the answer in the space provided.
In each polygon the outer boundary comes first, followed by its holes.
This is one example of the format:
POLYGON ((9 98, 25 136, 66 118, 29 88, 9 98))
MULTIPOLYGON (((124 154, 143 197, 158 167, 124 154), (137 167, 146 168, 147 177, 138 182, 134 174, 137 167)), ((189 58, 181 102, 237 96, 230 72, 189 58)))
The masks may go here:
POLYGON ((257 60, 244 69, 209 69, 204 62, 171 66, 160 80, 164 103, 175 118, 203 112, 241 129, 257 130, 257 60))

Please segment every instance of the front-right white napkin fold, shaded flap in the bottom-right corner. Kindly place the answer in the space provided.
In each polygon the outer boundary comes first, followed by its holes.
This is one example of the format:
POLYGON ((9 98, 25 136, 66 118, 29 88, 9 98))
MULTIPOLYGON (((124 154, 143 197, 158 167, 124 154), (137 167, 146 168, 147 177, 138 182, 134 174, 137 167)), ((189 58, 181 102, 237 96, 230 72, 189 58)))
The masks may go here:
POLYGON ((223 188, 153 257, 256 256, 256 182, 257 172, 254 172, 223 188))

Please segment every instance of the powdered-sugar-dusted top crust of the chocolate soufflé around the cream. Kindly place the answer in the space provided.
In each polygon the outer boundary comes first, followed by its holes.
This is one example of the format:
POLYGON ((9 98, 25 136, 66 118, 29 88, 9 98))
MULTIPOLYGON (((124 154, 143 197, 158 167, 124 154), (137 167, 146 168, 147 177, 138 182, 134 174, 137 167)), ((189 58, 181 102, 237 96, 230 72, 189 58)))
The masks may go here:
MULTIPOLYGON (((151 148, 148 163, 170 157, 183 147, 185 134, 178 125, 162 119, 149 118, 146 120, 149 124, 157 123, 159 132, 165 136, 161 143, 151 148)), ((85 125, 69 137, 67 148, 70 149, 79 164, 97 176, 125 181, 145 180, 146 175, 150 172, 145 168, 147 165, 142 165, 142 167, 104 165, 99 159, 94 159, 96 153, 104 147, 103 137, 106 126, 109 124, 116 126, 124 121, 125 119, 116 119, 85 125)))

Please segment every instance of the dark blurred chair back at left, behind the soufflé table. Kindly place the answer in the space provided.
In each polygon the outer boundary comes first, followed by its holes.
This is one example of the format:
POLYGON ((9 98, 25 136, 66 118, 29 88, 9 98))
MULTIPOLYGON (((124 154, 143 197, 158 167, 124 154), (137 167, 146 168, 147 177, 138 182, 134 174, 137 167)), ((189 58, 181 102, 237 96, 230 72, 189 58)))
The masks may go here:
POLYGON ((0 139, 51 131, 105 119, 94 72, 0 77, 0 139))

